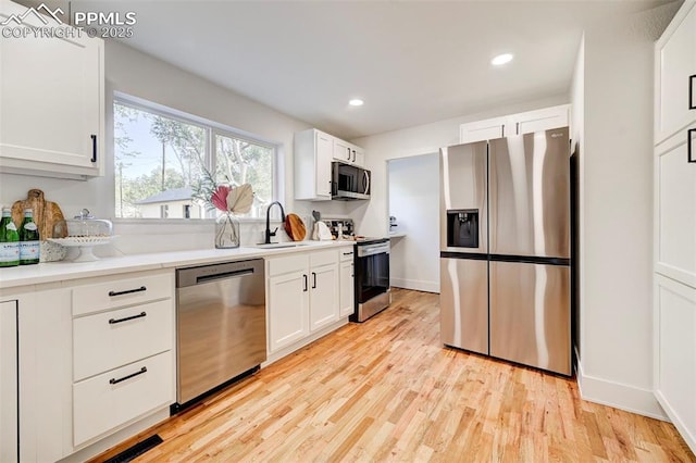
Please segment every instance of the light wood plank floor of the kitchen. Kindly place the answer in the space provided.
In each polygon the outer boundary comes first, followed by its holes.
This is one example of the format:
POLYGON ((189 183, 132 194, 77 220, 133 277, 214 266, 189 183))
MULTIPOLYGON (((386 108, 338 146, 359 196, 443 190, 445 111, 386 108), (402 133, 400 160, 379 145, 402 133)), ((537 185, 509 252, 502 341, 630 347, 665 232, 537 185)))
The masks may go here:
POLYGON ((437 295, 394 303, 102 454, 138 462, 696 462, 669 423, 574 380, 443 348, 437 295))

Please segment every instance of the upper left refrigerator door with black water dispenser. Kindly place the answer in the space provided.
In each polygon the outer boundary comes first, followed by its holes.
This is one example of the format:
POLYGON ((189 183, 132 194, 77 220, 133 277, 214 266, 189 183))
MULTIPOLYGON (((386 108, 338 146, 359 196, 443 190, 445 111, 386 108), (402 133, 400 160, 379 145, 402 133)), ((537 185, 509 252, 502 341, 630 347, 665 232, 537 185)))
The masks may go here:
MULTIPOLYGON (((486 141, 440 149, 439 242, 442 251, 487 252, 487 163, 488 147, 486 141), (455 223, 448 224, 448 220, 455 221, 455 223), (472 224, 475 230, 470 229, 472 224), (462 235, 471 236, 474 234, 477 239, 468 240, 464 237, 462 242, 458 242, 458 239, 452 242, 452 225, 462 235), (450 233, 449 246, 448 229, 450 233)), ((455 235, 460 237, 457 232, 455 235)))

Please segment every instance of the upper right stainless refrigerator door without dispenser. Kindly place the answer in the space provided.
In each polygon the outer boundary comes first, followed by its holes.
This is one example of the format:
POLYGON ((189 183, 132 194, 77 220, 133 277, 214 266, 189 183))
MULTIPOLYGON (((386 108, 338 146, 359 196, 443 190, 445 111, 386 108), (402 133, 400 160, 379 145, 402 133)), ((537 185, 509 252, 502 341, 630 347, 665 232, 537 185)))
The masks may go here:
POLYGON ((568 127, 489 141, 490 253, 570 256, 568 127))

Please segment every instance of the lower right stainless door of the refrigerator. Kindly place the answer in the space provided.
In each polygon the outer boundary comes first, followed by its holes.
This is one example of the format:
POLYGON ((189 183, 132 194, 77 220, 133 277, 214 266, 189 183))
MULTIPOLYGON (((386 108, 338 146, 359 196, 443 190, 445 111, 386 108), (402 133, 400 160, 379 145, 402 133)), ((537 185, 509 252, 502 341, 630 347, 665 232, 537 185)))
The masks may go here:
POLYGON ((490 355, 571 374, 568 266, 490 262, 490 355))

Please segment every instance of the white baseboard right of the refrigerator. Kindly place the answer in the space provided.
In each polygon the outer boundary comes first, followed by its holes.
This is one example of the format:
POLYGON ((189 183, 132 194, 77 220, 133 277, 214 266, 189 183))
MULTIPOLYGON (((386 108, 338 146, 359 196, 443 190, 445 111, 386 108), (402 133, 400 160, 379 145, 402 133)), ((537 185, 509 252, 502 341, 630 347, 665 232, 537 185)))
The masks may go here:
POLYGON ((651 390, 585 375, 582 362, 577 362, 577 387, 580 397, 588 402, 670 421, 651 390))

